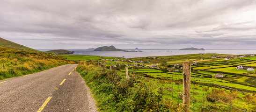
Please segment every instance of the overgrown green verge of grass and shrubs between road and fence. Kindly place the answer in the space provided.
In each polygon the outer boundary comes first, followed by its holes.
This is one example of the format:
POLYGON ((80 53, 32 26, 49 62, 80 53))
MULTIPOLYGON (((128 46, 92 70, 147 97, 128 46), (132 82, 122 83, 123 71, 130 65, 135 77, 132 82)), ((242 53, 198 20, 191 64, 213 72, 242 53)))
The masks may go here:
POLYGON ((80 63, 76 69, 94 94, 100 112, 183 112, 163 97, 163 88, 144 77, 130 77, 116 70, 80 63))

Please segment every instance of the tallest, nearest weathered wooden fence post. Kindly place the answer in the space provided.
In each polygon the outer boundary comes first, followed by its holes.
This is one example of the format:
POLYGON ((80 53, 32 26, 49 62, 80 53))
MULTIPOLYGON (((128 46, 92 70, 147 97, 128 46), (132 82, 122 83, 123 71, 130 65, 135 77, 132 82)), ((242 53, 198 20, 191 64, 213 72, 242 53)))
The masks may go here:
POLYGON ((183 110, 190 111, 190 76, 191 63, 183 62, 183 110))

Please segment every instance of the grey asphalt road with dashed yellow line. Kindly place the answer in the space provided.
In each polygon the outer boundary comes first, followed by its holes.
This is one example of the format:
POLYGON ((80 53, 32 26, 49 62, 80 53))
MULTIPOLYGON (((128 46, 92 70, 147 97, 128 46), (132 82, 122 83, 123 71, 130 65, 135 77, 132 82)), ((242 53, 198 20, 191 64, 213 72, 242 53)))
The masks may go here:
POLYGON ((0 81, 0 112, 95 112, 77 64, 0 81))

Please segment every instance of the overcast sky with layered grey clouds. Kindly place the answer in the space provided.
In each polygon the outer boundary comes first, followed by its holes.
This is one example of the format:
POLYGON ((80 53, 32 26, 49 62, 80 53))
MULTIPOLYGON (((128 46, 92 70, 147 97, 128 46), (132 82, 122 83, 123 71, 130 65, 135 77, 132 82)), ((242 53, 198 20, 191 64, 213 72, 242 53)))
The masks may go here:
POLYGON ((33 49, 256 49, 256 0, 0 0, 0 37, 33 49))

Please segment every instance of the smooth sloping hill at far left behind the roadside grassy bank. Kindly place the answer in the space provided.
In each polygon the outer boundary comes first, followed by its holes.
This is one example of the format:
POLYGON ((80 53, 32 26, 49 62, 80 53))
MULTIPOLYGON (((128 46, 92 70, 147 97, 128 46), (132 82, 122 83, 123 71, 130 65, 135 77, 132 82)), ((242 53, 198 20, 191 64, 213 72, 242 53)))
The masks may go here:
POLYGON ((2 48, 10 48, 10 49, 21 49, 21 50, 30 50, 30 51, 42 52, 42 51, 39 51, 39 50, 36 50, 36 49, 32 49, 32 48, 29 48, 29 47, 26 47, 26 46, 22 46, 22 45, 20 45, 18 43, 15 43, 15 42, 11 42, 11 41, 5 40, 3 38, 0 38, 0 47, 2 47, 2 48))

